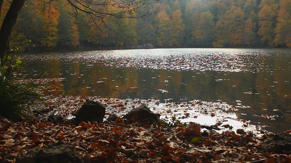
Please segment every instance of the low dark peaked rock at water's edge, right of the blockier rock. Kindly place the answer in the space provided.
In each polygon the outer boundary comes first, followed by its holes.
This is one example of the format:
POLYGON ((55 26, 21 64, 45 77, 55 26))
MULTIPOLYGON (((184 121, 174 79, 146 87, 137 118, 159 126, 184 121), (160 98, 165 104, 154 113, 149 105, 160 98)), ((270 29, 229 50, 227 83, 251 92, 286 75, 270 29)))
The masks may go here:
POLYGON ((131 109, 127 114, 125 114, 123 119, 127 119, 129 122, 148 122, 148 123, 158 123, 159 116, 153 113, 146 106, 141 105, 138 108, 131 109))

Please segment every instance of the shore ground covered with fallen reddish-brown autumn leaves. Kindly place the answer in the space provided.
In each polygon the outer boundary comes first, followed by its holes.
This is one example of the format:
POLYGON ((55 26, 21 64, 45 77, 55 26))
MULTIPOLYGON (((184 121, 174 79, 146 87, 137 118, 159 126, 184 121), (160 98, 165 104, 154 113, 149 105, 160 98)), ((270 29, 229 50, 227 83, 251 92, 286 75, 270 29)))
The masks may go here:
MULTIPOLYGON (((127 123, 123 119, 99 124, 81 122, 79 125, 47 121, 48 114, 70 119, 85 98, 51 98, 38 104, 41 109, 50 111, 31 120, 11 122, 0 119, 0 163, 13 162, 15 157, 29 150, 58 141, 72 145, 81 155, 88 156, 92 163, 291 163, 290 153, 264 152, 262 141, 272 134, 263 131, 259 135, 242 129, 218 133, 206 129, 201 131, 197 123, 188 123, 185 127, 180 123, 127 123)), ((107 115, 121 115, 128 110, 128 106, 134 108, 146 103, 142 100, 91 99, 101 101, 109 109, 107 115)), ((153 101, 147 100, 148 103, 153 101)), ((200 103, 195 104, 203 107, 200 103)), ((158 105, 157 102, 154 105, 158 105)), ((172 110, 166 112, 171 115, 172 110)), ((216 116, 214 114, 209 116, 216 116)))

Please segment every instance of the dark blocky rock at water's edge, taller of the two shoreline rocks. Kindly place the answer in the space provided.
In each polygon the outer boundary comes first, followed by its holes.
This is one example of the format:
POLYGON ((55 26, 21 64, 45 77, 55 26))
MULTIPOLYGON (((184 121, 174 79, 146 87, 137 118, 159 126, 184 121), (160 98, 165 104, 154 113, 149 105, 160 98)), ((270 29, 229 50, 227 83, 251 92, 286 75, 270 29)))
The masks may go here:
POLYGON ((86 102, 78 109, 75 121, 80 122, 103 122, 105 116, 105 107, 100 102, 86 100, 86 102))

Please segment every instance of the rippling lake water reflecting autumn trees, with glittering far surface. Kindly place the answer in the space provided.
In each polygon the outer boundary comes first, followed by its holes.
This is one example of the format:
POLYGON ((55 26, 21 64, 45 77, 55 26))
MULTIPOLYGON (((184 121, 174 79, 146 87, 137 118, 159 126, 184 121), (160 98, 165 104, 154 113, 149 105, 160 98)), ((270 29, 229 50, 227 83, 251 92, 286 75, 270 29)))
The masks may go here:
MULTIPOLYGON (((147 49, 24 54, 69 95, 226 102, 238 118, 291 129, 290 49, 147 49)), ((50 90, 58 94, 58 90, 50 90)))

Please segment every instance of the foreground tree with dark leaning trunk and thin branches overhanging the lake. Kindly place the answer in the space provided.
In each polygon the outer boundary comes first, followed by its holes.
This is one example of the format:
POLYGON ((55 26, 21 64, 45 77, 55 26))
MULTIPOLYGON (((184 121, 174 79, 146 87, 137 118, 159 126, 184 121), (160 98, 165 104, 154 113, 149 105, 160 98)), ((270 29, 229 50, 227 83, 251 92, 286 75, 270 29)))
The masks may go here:
MULTIPOLYGON (((51 0, 50 0, 51 1, 51 0)), ((50 2, 48 1, 48 2, 50 2)), ((150 0, 67 0, 69 4, 75 10, 75 16, 78 17, 79 12, 87 13, 94 21, 93 18, 99 18, 102 23, 106 18, 141 18, 151 15, 147 10, 143 12, 147 5, 150 4, 150 0), (99 6, 99 8, 94 7, 99 6), (118 10, 107 10, 107 8, 113 7, 118 10)), ((3 0, 0 0, 0 10, 2 8, 3 0)), ((17 21, 18 14, 24 5, 25 0, 13 0, 9 9, 5 15, 0 28, 0 58, 3 58, 8 48, 8 40, 11 35, 12 29, 17 21)), ((43 2, 45 3, 45 2, 43 2)), ((97 24, 96 24, 97 25, 97 24)))

